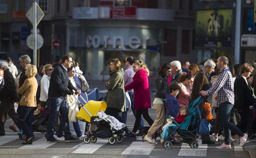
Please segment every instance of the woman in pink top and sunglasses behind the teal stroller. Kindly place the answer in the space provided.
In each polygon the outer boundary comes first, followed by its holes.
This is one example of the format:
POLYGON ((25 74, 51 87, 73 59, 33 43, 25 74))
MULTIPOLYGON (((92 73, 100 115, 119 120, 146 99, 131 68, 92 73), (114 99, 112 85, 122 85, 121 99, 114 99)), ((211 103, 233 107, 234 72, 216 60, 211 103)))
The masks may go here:
POLYGON ((190 86, 193 83, 194 78, 192 77, 192 74, 187 74, 184 72, 181 74, 179 81, 180 83, 178 83, 178 86, 181 88, 181 90, 177 96, 178 103, 180 108, 187 107, 191 96, 190 86))

